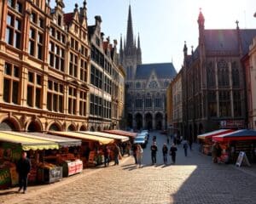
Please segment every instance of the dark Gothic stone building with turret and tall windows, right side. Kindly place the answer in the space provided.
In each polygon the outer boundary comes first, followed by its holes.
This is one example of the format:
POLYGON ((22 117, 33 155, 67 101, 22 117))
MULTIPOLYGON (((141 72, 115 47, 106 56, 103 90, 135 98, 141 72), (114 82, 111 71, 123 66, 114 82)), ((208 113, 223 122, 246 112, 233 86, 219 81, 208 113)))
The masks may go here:
POLYGON ((183 133, 196 139, 218 128, 247 127, 245 72, 241 58, 256 30, 207 30, 198 17, 199 43, 183 54, 183 133))

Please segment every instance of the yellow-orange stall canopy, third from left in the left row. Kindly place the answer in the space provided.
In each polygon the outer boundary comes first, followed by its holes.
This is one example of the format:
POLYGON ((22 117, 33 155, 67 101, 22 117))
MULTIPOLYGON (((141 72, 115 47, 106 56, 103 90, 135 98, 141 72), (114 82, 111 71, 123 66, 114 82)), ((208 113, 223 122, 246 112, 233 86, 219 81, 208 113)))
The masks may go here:
POLYGON ((62 131, 49 131, 50 134, 55 134, 67 138, 73 138, 73 139, 82 139, 82 140, 91 140, 91 141, 96 141, 99 142, 100 144, 110 144, 113 143, 113 139, 108 139, 108 138, 102 138, 90 134, 85 134, 85 133, 77 133, 77 132, 62 132, 62 131))

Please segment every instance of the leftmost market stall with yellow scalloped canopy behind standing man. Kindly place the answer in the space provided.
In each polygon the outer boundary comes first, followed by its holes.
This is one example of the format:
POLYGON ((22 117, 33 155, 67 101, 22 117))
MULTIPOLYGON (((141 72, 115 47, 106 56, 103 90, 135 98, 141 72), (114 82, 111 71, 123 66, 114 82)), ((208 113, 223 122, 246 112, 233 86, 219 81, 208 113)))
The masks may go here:
POLYGON ((59 145, 45 139, 32 139, 0 132, 0 185, 1 188, 14 186, 18 183, 15 163, 20 159, 21 151, 25 150, 32 162, 32 169, 28 177, 29 183, 36 183, 38 176, 39 154, 44 150, 58 150, 59 145))

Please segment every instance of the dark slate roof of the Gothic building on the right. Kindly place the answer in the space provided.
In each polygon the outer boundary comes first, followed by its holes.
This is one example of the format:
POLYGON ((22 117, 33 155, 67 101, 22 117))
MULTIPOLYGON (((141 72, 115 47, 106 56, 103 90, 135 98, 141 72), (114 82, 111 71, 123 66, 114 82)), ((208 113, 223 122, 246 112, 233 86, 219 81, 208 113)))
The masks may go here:
MULTIPOLYGON (((247 54, 256 30, 240 29, 242 54, 247 54)), ((239 53, 239 43, 236 29, 205 30, 206 48, 209 51, 237 51, 239 53)))

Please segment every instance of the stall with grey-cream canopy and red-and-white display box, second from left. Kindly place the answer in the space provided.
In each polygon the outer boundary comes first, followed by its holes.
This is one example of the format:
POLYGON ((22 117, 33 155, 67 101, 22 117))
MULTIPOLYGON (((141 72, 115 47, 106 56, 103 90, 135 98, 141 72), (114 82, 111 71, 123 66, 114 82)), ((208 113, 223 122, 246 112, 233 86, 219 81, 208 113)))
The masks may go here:
POLYGON ((49 171, 49 168, 40 169, 38 171, 38 180, 42 180, 42 175, 46 177, 49 183, 55 181, 55 177, 51 178, 50 175, 62 174, 63 177, 71 176, 75 173, 81 173, 83 171, 83 162, 80 160, 79 149, 82 144, 81 139, 70 139, 67 137, 59 137, 52 134, 46 133, 14 133, 15 135, 20 135, 24 137, 34 138, 34 139, 47 139, 59 144, 60 149, 58 151, 48 150, 44 152, 44 162, 48 161, 48 166, 51 167, 52 164, 62 167, 55 168, 49 171), (44 173, 42 173, 44 171, 44 173))

